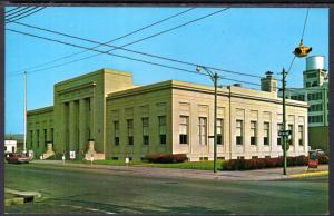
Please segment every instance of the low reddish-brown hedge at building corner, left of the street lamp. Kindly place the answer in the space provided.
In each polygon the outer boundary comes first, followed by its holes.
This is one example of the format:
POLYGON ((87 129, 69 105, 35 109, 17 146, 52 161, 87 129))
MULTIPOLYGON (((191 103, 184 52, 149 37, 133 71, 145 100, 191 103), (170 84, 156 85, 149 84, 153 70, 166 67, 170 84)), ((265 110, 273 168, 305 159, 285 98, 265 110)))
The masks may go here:
POLYGON ((184 163, 187 160, 186 154, 148 154, 145 156, 144 160, 149 163, 160 163, 160 164, 173 164, 173 163, 184 163))

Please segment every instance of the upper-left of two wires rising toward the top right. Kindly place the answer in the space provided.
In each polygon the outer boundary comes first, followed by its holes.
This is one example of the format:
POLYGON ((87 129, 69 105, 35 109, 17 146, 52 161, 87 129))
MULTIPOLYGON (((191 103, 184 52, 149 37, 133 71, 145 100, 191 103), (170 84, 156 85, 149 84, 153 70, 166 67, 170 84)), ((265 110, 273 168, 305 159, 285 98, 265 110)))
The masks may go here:
MULTIPOLYGON (((176 17, 178 17, 178 16, 181 16, 181 14, 184 14, 184 13, 187 13, 187 12, 194 10, 194 9, 195 9, 195 8, 190 8, 190 9, 184 10, 184 11, 181 11, 181 12, 175 13, 175 14, 173 14, 173 16, 169 16, 169 17, 167 17, 167 18, 164 18, 164 19, 161 19, 161 20, 158 20, 158 21, 156 21, 156 22, 153 22, 153 23, 150 23, 150 24, 147 24, 147 26, 145 26, 145 27, 143 27, 143 28, 139 28, 139 29, 136 29, 136 30, 134 30, 134 31, 130 31, 130 32, 128 32, 128 33, 126 33, 126 35, 124 35, 124 36, 114 38, 114 39, 111 39, 111 40, 109 40, 109 41, 107 41, 107 42, 104 42, 102 45, 111 43, 111 42, 115 42, 115 41, 120 40, 120 39, 122 39, 122 38, 132 36, 132 35, 135 35, 135 33, 137 33, 137 32, 140 32, 140 31, 146 30, 146 29, 148 29, 148 28, 151 28, 151 27, 154 27, 154 26, 160 24, 160 23, 163 23, 163 22, 165 22, 165 21, 167 21, 167 20, 170 20, 170 19, 176 18, 176 17)), ((28 27, 28 24, 26 24, 26 26, 28 27)), ((98 48, 98 47, 100 47, 100 46, 96 46, 96 47, 92 47, 92 48, 98 48)), ((80 53, 84 53, 84 52, 87 52, 87 50, 79 51, 79 52, 73 52, 73 53, 70 53, 70 55, 67 55, 67 56, 63 56, 63 57, 53 59, 53 60, 48 61, 48 62, 45 62, 45 63, 40 63, 40 65, 37 65, 37 66, 32 66, 32 67, 24 68, 24 69, 22 69, 22 70, 30 70, 30 69, 33 69, 33 68, 40 68, 40 67, 43 67, 43 66, 47 66, 47 65, 50 65, 50 63, 58 62, 58 61, 60 61, 60 60, 67 59, 67 58, 71 58, 71 57, 73 57, 73 56, 77 56, 77 55, 80 55, 80 53)), ((89 58, 90 58, 90 57, 89 57, 89 58)), ((84 59, 87 59, 87 58, 84 58, 84 59)), ((84 60, 84 59, 79 59, 79 60, 84 60)), ((78 60, 78 61, 79 61, 79 60, 78 60)), ((71 61, 71 62, 76 62, 76 61, 71 61)), ((16 70, 14 72, 22 71, 22 70, 16 70)))

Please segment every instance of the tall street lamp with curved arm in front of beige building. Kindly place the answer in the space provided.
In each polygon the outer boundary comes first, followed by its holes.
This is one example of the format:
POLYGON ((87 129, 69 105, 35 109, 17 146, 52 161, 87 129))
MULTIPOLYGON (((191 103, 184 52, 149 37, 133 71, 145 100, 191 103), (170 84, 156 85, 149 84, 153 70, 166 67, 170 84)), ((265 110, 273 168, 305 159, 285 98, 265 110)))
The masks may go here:
POLYGON ((214 173, 217 173, 217 80, 222 78, 217 75, 217 72, 210 71, 208 68, 204 66, 197 66, 196 71, 200 72, 204 70, 213 80, 215 86, 215 116, 214 116, 214 173))

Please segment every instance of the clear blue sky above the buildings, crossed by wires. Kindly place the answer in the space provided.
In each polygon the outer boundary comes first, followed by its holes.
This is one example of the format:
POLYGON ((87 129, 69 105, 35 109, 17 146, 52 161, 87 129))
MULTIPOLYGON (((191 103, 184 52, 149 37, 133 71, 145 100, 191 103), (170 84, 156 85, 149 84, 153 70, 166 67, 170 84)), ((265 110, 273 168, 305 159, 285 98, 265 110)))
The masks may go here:
MULTIPOLYGON (((10 9, 12 8, 7 8, 7 10, 10 9)), ((155 7, 47 7, 20 21, 106 42, 187 9, 188 8, 155 7)), ((219 8, 196 8, 183 16, 118 40, 111 45, 122 46, 217 10, 219 10, 219 8)), ((266 71, 271 70, 275 76, 278 76, 282 68, 288 68, 292 61, 292 51, 299 43, 305 16, 305 8, 232 8, 225 12, 217 13, 198 22, 131 45, 127 48, 237 72, 263 76, 266 71)), ((23 28, 16 23, 8 23, 6 28, 86 47, 94 47, 92 43, 23 28)), ((327 9, 310 9, 304 35, 304 45, 313 47, 313 51, 311 52, 312 56, 325 56, 327 68, 327 9)), ((20 73, 28 67, 48 62, 80 50, 81 49, 79 48, 6 31, 7 134, 23 131, 23 76, 20 73)), ((106 50, 106 48, 101 48, 101 50, 106 50)), ((56 62, 55 65, 68 62, 92 53, 92 51, 88 51, 70 59, 56 62)), ((143 57, 121 50, 116 50, 115 53, 195 71, 194 67, 143 57)), ((50 66, 52 65, 46 67, 50 66)), ((53 104, 53 85, 56 82, 100 68, 130 71, 132 72, 135 84, 137 85, 154 84, 168 79, 212 85, 212 81, 207 77, 100 55, 95 58, 38 72, 30 73, 30 71, 27 70, 28 110, 51 106, 53 104)), ((301 87, 303 84, 304 69, 305 59, 296 59, 287 79, 287 86, 301 87)), ((222 72, 222 75, 230 79, 259 84, 258 78, 224 72, 222 72)), ((222 84, 229 85, 233 82, 223 80, 222 84)), ((243 86, 258 88, 245 84, 243 84, 243 86)))

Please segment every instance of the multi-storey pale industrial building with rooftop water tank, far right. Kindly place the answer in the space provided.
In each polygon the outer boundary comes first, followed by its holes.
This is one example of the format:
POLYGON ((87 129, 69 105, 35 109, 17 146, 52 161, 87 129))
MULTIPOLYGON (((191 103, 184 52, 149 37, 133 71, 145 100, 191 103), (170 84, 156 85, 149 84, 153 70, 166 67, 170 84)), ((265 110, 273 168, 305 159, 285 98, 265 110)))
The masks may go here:
POLYGON ((306 58, 306 70, 303 72, 303 88, 289 88, 287 98, 307 101, 308 107, 308 144, 313 149, 322 148, 328 153, 330 145, 330 89, 328 71, 323 56, 306 58))

